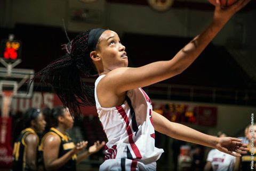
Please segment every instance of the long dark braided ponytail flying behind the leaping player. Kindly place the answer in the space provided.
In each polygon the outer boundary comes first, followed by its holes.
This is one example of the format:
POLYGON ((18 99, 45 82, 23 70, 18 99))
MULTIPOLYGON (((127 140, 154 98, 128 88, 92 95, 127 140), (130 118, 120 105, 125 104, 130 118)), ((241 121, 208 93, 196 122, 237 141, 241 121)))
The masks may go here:
POLYGON ((55 59, 36 73, 36 76, 41 76, 40 82, 44 86, 50 84, 53 87, 63 106, 68 107, 71 114, 81 114, 81 106, 95 105, 94 87, 87 86, 81 79, 82 75, 98 75, 90 58, 90 31, 79 33, 65 45, 66 55, 55 59))

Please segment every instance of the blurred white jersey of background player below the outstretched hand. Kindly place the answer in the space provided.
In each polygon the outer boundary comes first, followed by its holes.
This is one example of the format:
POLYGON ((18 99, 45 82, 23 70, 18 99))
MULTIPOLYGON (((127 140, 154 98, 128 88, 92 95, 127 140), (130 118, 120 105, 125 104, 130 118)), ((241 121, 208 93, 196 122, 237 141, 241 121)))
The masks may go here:
POLYGON ((211 161, 213 171, 231 171, 233 170, 236 157, 228 155, 217 149, 208 153, 207 161, 211 161))

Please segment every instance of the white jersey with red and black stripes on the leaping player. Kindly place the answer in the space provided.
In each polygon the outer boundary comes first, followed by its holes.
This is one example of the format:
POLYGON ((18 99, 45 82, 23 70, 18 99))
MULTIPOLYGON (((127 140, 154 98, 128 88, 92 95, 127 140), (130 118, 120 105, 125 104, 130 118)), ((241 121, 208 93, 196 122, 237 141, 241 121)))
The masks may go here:
POLYGON ((100 122, 108 138, 105 160, 131 159, 145 165, 155 162, 164 150, 155 147, 149 97, 138 88, 127 91, 123 105, 101 107, 96 88, 103 76, 105 75, 99 76, 95 81, 95 101, 100 122))

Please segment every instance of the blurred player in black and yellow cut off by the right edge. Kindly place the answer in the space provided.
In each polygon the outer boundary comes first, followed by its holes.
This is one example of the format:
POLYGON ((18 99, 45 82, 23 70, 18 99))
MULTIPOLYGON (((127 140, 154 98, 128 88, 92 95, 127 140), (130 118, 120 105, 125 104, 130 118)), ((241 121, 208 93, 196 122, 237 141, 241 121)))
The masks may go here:
POLYGON ((256 124, 248 126, 249 151, 242 154, 242 157, 237 157, 234 171, 255 171, 256 170, 256 124))

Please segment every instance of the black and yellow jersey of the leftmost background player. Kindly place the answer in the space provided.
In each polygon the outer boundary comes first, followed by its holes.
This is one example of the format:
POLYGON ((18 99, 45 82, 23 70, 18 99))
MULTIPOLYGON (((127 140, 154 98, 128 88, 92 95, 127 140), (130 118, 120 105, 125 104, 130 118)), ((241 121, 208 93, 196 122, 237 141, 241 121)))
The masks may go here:
MULTIPOLYGON (((37 133, 30 128, 27 128, 23 131, 21 131, 21 134, 18 136, 18 139, 14 142, 13 147, 13 171, 29 171, 30 168, 26 162, 26 151, 27 151, 27 144, 25 143, 25 138, 28 134, 34 134, 36 135, 38 142, 39 137, 37 133)), ((38 148, 37 148, 38 153, 38 148)))

